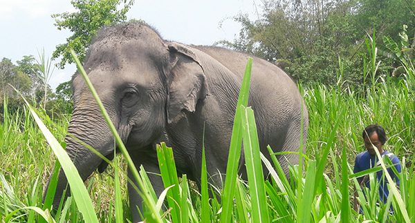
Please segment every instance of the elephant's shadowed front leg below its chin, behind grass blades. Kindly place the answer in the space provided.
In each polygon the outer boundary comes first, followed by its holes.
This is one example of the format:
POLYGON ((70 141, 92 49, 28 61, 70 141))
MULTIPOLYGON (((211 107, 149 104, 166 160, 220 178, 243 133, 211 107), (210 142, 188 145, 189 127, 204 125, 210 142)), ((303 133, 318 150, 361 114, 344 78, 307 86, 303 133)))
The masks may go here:
MULTIPOLYGON (((139 171, 140 166, 142 165, 147 172, 147 175, 149 177, 149 180, 151 182, 151 185, 153 185, 154 191, 156 192, 157 197, 160 196, 160 194, 164 190, 163 181, 159 175, 160 169, 158 168, 157 160, 154 160, 152 158, 149 158, 146 155, 138 155, 138 154, 130 154, 131 158, 133 159, 134 165, 136 166, 136 169, 139 171)), ((130 170, 128 170, 128 177, 135 182, 133 178, 133 174, 130 170)), ((135 182, 136 187, 138 188, 137 182, 135 182)), ((133 222, 140 222, 141 216, 138 210, 142 212, 142 197, 137 193, 136 189, 131 185, 128 184, 128 194, 129 194, 129 204, 131 209, 131 215, 133 217, 133 222)))

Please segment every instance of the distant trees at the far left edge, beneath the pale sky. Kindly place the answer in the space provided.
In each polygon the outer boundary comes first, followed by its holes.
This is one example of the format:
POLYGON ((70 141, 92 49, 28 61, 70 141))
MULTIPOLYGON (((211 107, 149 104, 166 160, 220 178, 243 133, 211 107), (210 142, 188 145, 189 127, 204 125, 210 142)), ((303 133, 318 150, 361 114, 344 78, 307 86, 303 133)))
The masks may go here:
MULTIPOLYGON (((42 106, 48 111, 48 115, 61 115, 72 113, 72 88, 71 82, 65 82, 57 86, 56 94, 48 85, 52 75, 51 61, 44 54, 39 54, 39 61, 33 56, 24 56, 17 64, 13 64, 8 58, 0 61, 0 100, 8 98, 10 111, 21 110, 24 101, 12 89, 17 88, 34 106, 42 106), (11 85, 11 86, 10 86, 11 85)), ((3 104, 0 104, 0 110, 3 104)), ((0 115, 0 122, 2 118, 0 115)))

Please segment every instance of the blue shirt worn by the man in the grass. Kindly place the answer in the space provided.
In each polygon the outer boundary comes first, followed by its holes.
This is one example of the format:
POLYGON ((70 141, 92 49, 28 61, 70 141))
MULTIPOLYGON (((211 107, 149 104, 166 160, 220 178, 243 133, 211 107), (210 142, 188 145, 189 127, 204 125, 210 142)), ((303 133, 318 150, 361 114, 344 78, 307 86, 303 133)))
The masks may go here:
MULTIPOLYGON (((389 154, 388 151, 383 151, 383 153, 380 155, 382 155, 383 157, 384 155, 387 155, 387 154, 389 154)), ((392 164, 394 164, 396 171, 400 173, 401 166, 400 166, 398 157, 396 157, 396 155, 391 154, 389 155, 389 159, 391 159, 392 164)), ((378 163, 378 158, 376 157, 376 155, 370 155, 369 152, 367 151, 359 153, 356 156, 353 173, 358 173, 360 171, 365 171, 369 168, 375 167, 377 166, 377 163, 378 163)), ((399 185, 399 179, 394 173, 394 171, 391 168, 387 168, 387 172, 391 176, 392 180, 396 182, 396 185, 399 185)), ((387 179, 385 176, 383 176, 382 170, 376 172, 376 178, 378 182, 380 182, 380 185, 379 185, 380 200, 382 200, 382 202, 386 202, 387 196, 389 195, 389 190, 387 188, 387 179)), ((365 182, 365 186, 369 188, 369 180, 365 182)))

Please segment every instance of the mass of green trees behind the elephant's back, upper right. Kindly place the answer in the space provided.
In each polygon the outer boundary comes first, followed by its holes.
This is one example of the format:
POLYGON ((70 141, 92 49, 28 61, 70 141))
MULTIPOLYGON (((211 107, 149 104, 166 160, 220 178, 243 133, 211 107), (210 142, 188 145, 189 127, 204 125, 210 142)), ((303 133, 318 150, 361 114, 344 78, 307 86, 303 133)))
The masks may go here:
MULTIPOLYGON (((362 93, 362 57, 369 59, 365 38, 373 30, 382 48, 387 46, 382 37, 398 42, 398 33, 406 24, 406 46, 412 52, 415 48, 412 0, 279 0, 265 1, 263 7, 264 13, 255 21, 243 14, 235 17, 242 26, 239 37, 219 43, 267 59, 307 85, 337 84, 333 73, 341 57, 342 86, 362 93)), ((378 57, 389 65, 380 64, 376 77, 390 75, 400 65, 399 60, 384 52, 378 57)))

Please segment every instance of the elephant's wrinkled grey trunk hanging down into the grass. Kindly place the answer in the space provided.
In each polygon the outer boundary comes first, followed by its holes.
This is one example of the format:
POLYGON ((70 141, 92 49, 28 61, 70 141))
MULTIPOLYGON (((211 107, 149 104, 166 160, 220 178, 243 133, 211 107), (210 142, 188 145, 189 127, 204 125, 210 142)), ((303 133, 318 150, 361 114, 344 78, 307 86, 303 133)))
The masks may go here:
MULTIPOLYGON (((68 135, 65 138, 66 152, 69 157, 71 157, 71 160, 73 164, 75 164, 83 181, 85 181, 93 171, 100 166, 102 159, 88 148, 82 146, 79 142, 81 141, 92 146, 104 156, 111 155, 114 149, 111 131, 97 109, 80 110, 75 108, 68 127, 68 135)), ((112 115, 112 117, 116 116, 112 115)), ((116 123, 114 122, 116 120, 112 121, 113 123, 116 123)), ((59 206, 67 182, 64 171, 61 168, 59 171, 55 198, 53 200, 53 207, 55 209, 59 206)), ((46 191, 48 190, 49 184, 50 179, 46 186, 46 191)), ((46 191, 44 195, 46 195, 46 191)), ((65 198, 70 194, 69 191, 68 187, 65 198)))

